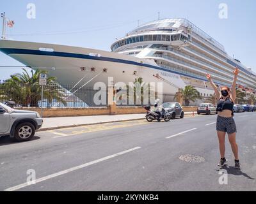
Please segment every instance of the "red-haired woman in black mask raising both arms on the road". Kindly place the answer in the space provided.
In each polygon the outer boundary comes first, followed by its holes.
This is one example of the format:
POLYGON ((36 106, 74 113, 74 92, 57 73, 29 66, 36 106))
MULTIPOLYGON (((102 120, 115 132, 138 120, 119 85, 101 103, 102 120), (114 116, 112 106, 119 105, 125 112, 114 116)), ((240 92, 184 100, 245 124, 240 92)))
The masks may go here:
POLYGON ((234 112, 234 102, 236 101, 236 81, 239 74, 239 69, 236 68, 234 71, 234 82, 232 84, 231 90, 229 87, 221 87, 221 92, 212 81, 211 75, 207 74, 206 77, 214 88, 216 98, 218 99, 218 119, 216 130, 218 133, 219 143, 220 143, 220 154, 221 159, 218 166, 225 166, 227 164, 227 159, 225 158, 225 135, 228 134, 228 139, 232 147, 232 151, 235 156, 235 168, 240 169, 239 157, 238 157, 238 146, 236 143, 236 123, 233 118, 234 112))

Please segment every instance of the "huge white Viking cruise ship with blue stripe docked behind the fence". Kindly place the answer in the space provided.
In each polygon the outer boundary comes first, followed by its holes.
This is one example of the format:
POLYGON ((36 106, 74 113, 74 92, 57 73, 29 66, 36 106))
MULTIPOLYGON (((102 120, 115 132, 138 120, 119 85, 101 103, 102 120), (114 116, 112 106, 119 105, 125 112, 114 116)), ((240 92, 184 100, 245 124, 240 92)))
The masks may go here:
POLYGON ((47 69, 61 85, 93 87, 96 82, 163 82, 163 100, 172 101, 179 88, 193 85, 203 98, 214 94, 205 78, 230 86, 233 71, 241 73, 237 88, 256 92, 256 74, 209 34, 184 18, 140 25, 111 45, 111 52, 47 43, 1 40, 0 50, 31 68, 47 69))

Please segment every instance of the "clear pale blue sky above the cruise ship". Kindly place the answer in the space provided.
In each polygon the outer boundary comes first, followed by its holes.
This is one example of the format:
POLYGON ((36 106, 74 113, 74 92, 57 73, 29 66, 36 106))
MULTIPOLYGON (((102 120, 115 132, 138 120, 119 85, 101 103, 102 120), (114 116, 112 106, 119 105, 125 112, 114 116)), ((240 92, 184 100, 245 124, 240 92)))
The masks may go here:
MULTIPOLYGON (((161 18, 188 18, 210 36, 220 41, 229 55, 256 71, 256 1, 255 0, 9 0, 1 2, 0 11, 15 21, 7 33, 13 40, 74 45, 110 50, 115 38, 148 21, 161 18), (36 18, 27 18, 27 5, 34 3, 36 18), (228 5, 228 18, 218 17, 219 4, 228 5)), ((0 66, 20 66, 0 54, 0 66)), ((0 79, 21 69, 0 68, 0 79)))

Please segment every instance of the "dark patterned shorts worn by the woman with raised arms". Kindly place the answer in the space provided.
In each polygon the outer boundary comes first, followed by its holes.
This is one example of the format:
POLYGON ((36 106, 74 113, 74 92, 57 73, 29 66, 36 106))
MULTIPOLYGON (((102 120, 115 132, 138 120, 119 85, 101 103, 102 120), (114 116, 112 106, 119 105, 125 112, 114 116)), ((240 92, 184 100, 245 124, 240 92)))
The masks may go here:
POLYGON ((218 115, 216 130, 228 134, 236 133, 236 122, 233 117, 221 117, 218 115))

